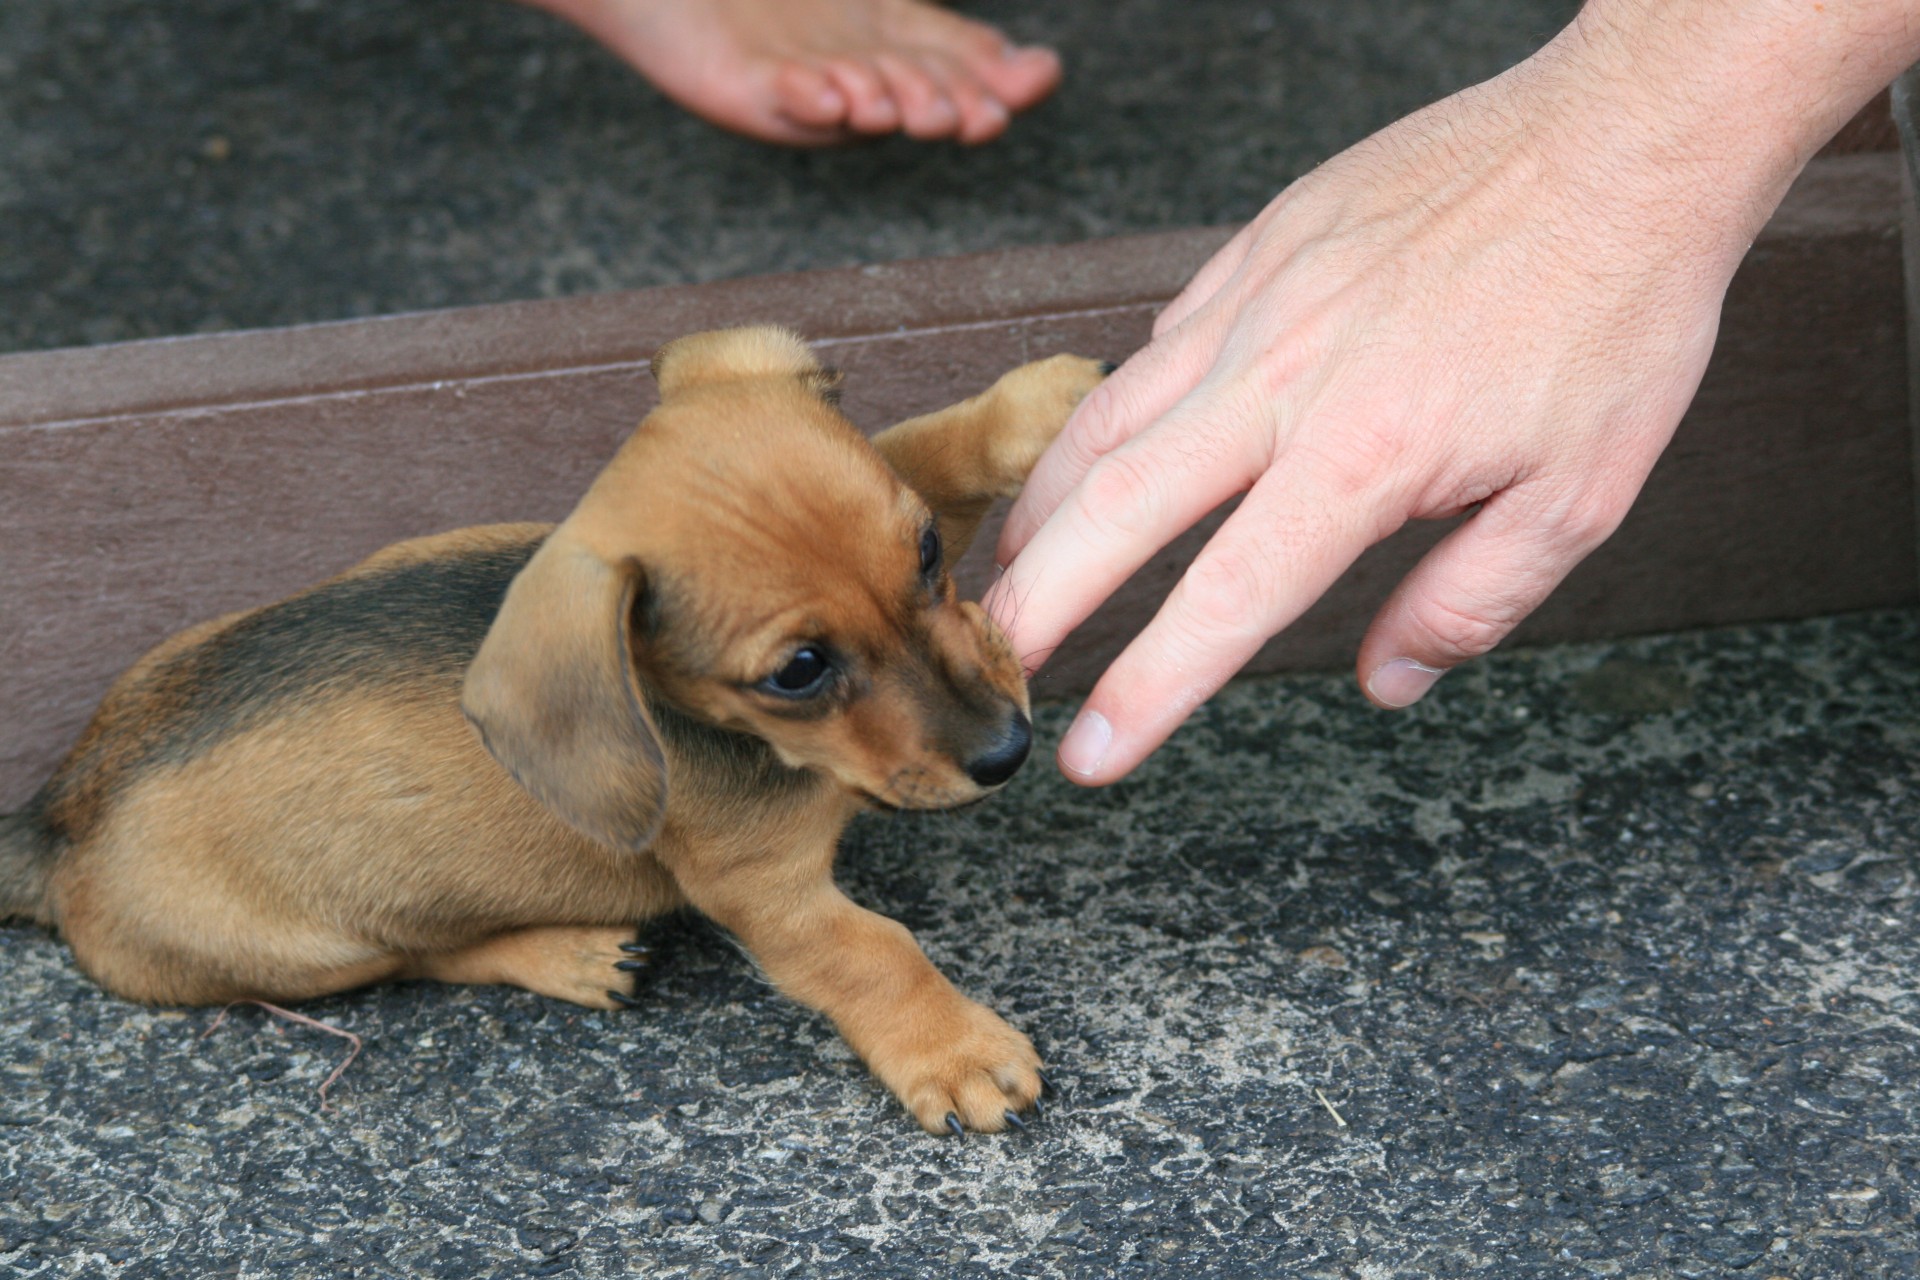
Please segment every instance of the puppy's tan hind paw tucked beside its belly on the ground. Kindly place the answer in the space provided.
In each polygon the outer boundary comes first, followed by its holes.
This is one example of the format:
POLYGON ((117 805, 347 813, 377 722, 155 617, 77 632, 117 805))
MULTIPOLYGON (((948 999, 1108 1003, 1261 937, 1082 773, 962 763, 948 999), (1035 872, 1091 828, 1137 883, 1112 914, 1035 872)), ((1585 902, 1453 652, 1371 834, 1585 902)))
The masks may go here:
POLYGON ((637 1004, 634 975, 647 967, 645 956, 632 925, 543 925, 422 956, 401 977, 503 983, 589 1009, 622 1009, 637 1004))

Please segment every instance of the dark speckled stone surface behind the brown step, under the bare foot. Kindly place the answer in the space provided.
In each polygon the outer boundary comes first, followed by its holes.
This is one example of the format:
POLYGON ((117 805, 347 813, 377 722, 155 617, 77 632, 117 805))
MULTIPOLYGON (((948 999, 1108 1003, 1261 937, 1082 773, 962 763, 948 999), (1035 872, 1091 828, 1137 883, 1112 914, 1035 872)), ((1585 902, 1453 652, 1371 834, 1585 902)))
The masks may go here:
POLYGON ((1576 0, 983 0, 1002 142, 795 154, 507 0, 0 4, 0 351, 1244 221, 1576 0))

